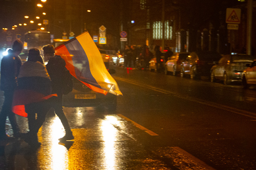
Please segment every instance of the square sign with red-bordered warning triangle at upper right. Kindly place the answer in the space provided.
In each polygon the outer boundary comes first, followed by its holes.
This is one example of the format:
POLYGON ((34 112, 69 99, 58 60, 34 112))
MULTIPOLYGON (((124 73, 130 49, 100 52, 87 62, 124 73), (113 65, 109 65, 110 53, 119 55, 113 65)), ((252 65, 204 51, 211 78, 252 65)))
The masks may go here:
POLYGON ((238 9, 238 8, 226 9, 226 23, 240 24, 241 22, 240 18, 241 18, 241 9, 238 9))

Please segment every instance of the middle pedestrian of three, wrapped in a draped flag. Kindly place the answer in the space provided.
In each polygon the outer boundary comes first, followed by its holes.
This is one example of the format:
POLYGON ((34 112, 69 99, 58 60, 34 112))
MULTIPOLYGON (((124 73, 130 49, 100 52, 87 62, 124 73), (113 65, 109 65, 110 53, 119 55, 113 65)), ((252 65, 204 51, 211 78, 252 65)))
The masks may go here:
POLYGON ((42 100, 42 95, 49 96, 51 92, 50 76, 44 66, 40 51, 37 48, 32 48, 29 50, 27 61, 20 67, 18 88, 14 92, 13 100, 13 105, 16 101, 27 103, 25 104, 25 112, 29 122, 29 132, 22 134, 22 138, 31 147, 37 148, 41 145, 38 142, 37 133, 45 121, 45 116, 50 110, 50 103, 53 99, 42 100), (23 91, 26 91, 26 93, 23 93, 23 91), (37 119, 35 118, 36 113, 37 119))

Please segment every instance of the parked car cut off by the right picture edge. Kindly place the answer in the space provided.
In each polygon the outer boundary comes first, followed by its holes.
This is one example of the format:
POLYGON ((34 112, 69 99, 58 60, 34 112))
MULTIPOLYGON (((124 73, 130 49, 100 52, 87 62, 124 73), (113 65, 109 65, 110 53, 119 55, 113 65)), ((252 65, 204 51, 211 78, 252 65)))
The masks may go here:
POLYGON ((256 60, 245 66, 247 68, 242 72, 242 85, 248 88, 250 85, 256 85, 256 60))

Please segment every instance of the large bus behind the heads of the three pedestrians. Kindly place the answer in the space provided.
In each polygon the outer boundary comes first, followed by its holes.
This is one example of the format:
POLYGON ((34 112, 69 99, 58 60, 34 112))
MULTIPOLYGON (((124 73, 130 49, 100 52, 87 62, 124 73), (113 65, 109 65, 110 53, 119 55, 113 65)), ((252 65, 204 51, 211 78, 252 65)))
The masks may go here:
POLYGON ((29 31, 25 33, 25 39, 23 43, 23 52, 28 53, 31 48, 38 48, 42 53, 42 47, 51 44, 50 32, 48 31, 29 31))

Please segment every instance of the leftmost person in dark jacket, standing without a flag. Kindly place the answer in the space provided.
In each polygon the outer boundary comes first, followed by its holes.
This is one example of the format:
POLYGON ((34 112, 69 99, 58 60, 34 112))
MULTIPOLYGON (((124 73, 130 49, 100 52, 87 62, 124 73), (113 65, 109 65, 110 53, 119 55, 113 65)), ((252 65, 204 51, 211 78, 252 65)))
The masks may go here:
POLYGON ((4 56, 1 60, 1 90, 4 91, 4 103, 0 112, 0 140, 11 139, 11 137, 5 133, 7 116, 11 122, 14 137, 20 137, 16 117, 12 112, 12 98, 15 88, 18 86, 17 76, 22 65, 19 54, 22 49, 22 42, 15 40, 12 44, 12 49, 8 50, 8 55, 4 56))

